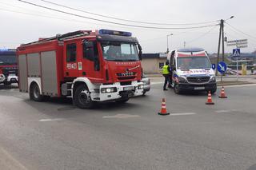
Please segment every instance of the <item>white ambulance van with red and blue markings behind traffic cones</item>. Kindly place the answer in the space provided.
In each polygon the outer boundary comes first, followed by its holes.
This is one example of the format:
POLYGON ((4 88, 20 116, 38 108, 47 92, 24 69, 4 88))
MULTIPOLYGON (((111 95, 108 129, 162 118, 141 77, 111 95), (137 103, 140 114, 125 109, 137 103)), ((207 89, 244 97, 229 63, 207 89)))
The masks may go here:
POLYGON ((172 87, 175 93, 182 91, 206 91, 215 93, 216 77, 210 59, 204 49, 178 49, 168 53, 172 69, 172 87))

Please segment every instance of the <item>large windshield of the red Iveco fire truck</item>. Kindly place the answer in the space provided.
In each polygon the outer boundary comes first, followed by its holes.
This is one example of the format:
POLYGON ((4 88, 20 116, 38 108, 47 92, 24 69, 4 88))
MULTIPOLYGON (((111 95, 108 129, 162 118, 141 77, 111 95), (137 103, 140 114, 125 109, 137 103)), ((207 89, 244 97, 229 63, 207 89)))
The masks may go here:
POLYGON ((138 61, 138 50, 135 43, 102 42, 102 53, 106 61, 138 61))

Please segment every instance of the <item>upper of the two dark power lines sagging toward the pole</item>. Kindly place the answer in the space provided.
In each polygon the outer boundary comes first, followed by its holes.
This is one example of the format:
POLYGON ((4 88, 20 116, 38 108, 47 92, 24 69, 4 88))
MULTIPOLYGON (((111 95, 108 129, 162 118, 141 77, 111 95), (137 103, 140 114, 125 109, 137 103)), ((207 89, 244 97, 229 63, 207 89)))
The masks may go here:
POLYGON ((123 21, 123 22, 134 22, 134 23, 141 23, 141 24, 150 24, 150 25, 162 25, 162 26, 191 26, 191 25, 202 25, 202 24, 209 24, 209 23, 213 23, 213 22, 218 22, 218 20, 215 21, 211 21, 211 22, 194 22, 194 23, 182 23, 182 24, 178 24, 178 23, 159 23, 159 22, 141 22, 141 21, 134 21, 134 20, 128 20, 128 19, 123 19, 123 18, 115 18, 115 17, 111 17, 111 16, 107 16, 107 15, 103 15, 103 14, 96 14, 96 13, 92 13, 90 11, 86 11, 86 10, 80 10, 78 8, 74 8, 74 7, 70 7, 70 6, 64 6, 62 4, 58 4, 58 3, 54 3, 54 2, 50 2, 50 1, 46 1, 46 0, 41 0, 42 2, 46 2, 46 3, 50 3, 54 6, 62 6, 64 8, 70 9, 70 10, 77 10, 79 12, 83 12, 86 14, 92 14, 95 16, 99 16, 99 17, 103 17, 103 18, 110 18, 110 19, 115 19, 115 20, 119 20, 119 21, 123 21))

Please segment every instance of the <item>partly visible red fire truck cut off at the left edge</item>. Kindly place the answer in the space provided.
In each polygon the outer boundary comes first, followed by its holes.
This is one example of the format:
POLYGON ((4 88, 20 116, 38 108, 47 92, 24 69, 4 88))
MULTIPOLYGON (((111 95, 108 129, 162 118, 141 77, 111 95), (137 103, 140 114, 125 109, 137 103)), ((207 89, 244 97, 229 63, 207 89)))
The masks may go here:
POLYGON ((0 49, 0 84, 18 82, 18 65, 15 49, 0 49))

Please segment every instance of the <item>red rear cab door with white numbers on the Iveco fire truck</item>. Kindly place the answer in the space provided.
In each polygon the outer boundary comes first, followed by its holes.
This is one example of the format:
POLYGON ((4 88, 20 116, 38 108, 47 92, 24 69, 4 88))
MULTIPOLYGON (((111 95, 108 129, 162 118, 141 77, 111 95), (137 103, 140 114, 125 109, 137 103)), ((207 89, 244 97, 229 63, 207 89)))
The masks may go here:
POLYGON ((78 77, 78 48, 77 43, 65 45, 64 77, 78 77))

